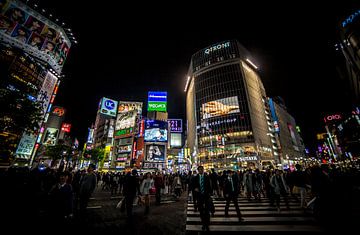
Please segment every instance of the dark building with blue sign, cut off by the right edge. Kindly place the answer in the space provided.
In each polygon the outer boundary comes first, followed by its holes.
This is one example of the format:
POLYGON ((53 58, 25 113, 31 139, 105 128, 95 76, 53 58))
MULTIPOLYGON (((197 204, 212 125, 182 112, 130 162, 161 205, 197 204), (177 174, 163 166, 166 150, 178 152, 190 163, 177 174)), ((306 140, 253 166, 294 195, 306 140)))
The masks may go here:
POLYGON ((360 103, 360 9, 349 11, 338 24, 336 50, 345 59, 346 75, 353 104, 360 103))

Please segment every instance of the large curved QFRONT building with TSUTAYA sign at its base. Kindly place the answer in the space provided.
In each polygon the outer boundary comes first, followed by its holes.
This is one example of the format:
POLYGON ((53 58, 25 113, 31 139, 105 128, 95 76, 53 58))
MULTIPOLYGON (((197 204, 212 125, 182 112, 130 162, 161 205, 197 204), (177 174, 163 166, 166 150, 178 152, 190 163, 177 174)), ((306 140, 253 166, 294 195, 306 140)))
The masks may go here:
POLYGON ((187 147, 205 168, 275 162, 266 92, 250 53, 235 40, 196 52, 185 85, 187 147))

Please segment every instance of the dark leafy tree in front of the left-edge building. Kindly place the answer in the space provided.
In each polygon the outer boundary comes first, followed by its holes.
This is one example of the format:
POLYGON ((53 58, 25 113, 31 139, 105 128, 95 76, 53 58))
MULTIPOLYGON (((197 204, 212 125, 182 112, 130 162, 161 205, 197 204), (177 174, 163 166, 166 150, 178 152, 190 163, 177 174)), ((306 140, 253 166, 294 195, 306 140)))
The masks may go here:
POLYGON ((22 134, 39 130, 44 115, 42 103, 29 94, 33 89, 23 91, 0 87, 0 161, 11 162, 22 134))

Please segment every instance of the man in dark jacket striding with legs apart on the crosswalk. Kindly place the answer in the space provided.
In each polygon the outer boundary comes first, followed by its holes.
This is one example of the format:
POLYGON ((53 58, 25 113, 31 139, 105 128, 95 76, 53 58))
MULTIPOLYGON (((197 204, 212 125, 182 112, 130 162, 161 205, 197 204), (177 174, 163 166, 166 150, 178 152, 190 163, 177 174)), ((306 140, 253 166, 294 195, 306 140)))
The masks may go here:
POLYGON ((224 179, 224 197, 226 200, 225 217, 229 216, 230 201, 233 201, 234 205, 235 205, 237 216, 239 217, 239 221, 241 222, 244 219, 242 218, 242 215, 241 215, 241 212, 239 209, 239 204, 237 201, 239 192, 240 192, 239 178, 237 177, 237 175, 233 174, 232 170, 228 170, 227 177, 225 177, 225 179, 224 179))

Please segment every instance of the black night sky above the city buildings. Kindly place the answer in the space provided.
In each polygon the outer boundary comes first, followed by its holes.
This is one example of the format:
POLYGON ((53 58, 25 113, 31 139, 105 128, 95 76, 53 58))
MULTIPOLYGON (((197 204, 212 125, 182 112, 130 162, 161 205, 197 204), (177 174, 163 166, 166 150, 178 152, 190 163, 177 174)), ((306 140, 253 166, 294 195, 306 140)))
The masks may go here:
POLYGON ((67 109, 72 134, 81 142, 103 96, 146 102, 149 90, 168 91, 169 117, 185 118, 183 90, 191 55, 228 39, 237 39, 253 54, 267 95, 284 98, 305 144, 322 130, 324 113, 351 107, 333 46, 336 23, 349 9, 358 9, 355 1, 37 2, 63 19, 79 41, 65 63, 66 80, 55 104, 67 109))

